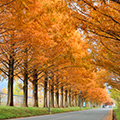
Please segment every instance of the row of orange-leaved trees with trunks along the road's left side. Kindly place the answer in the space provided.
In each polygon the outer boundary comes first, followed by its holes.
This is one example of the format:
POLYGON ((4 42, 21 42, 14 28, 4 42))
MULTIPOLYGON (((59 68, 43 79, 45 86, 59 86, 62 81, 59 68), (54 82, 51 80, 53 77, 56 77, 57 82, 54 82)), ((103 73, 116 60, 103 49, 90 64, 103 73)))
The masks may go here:
POLYGON ((77 106, 80 91, 82 99, 91 102, 109 100, 104 86, 109 74, 97 67, 96 58, 93 58, 93 53, 97 57, 99 45, 92 42, 97 46, 93 50, 88 44, 88 36, 87 40, 84 39, 86 35, 82 35, 80 26, 85 24, 80 24, 74 12, 73 3, 66 1, 0 1, 0 74, 8 80, 8 106, 14 105, 13 83, 17 78, 23 81, 25 107, 28 106, 28 82, 33 86, 35 107, 38 107, 38 84, 44 87, 44 107, 48 106, 48 87, 51 89, 52 107, 54 96, 57 107, 63 107, 63 94, 66 107, 68 96, 69 106, 74 100, 77 106))

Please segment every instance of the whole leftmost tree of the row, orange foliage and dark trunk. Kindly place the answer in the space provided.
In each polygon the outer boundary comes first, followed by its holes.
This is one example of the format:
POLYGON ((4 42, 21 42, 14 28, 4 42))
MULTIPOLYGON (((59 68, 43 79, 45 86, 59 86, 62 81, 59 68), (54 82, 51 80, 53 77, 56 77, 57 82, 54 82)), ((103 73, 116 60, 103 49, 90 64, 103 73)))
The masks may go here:
MULTIPOLYGON (((14 1, 14 0, 13 0, 14 1)), ((11 22, 14 20, 15 16, 11 15, 10 6, 13 1, 0 1, 0 64, 3 64, 4 68, 0 70, 8 76, 8 98, 7 105, 13 106, 13 80, 14 80, 14 70, 15 70, 15 29, 11 22), (6 17, 8 19, 6 19, 6 17), (13 41, 14 40, 14 41, 13 41)), ((11 8, 12 9, 12 8, 11 8)))

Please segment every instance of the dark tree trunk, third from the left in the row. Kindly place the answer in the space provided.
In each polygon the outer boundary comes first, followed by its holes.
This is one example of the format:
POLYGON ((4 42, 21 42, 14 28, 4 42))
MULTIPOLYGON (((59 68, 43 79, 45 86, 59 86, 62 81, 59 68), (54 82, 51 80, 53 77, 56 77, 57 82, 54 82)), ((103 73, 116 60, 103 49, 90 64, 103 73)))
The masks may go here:
POLYGON ((38 107, 38 79, 37 79, 37 70, 33 71, 33 97, 34 97, 34 107, 38 107))

